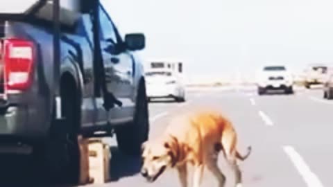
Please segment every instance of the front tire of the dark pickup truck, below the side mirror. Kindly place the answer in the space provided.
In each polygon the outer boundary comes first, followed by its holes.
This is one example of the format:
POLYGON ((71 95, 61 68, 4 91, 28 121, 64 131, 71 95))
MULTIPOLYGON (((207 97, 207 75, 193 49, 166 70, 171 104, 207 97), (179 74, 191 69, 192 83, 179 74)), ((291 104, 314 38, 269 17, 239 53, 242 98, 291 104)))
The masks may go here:
POLYGON ((149 114, 147 103, 146 87, 144 81, 142 81, 138 89, 133 122, 115 128, 118 148, 125 154, 139 156, 142 143, 148 140, 149 114))

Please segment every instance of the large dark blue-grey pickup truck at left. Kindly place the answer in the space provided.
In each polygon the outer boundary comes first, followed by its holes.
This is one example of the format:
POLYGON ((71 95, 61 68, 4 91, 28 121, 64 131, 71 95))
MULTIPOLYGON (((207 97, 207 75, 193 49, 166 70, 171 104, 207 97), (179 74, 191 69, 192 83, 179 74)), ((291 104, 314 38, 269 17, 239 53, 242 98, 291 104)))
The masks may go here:
POLYGON ((143 34, 123 39, 99 3, 105 70, 101 75, 94 73, 90 12, 81 14, 73 25, 61 25, 60 62, 53 61, 49 21, 0 18, 0 148, 33 155, 46 176, 56 181, 77 181, 80 134, 112 136, 114 132, 119 150, 139 155, 149 130, 144 68, 135 53, 144 48, 143 34), (57 63, 58 93, 52 76, 57 63), (100 77, 114 100, 108 109, 98 86, 101 82, 96 81, 100 77))

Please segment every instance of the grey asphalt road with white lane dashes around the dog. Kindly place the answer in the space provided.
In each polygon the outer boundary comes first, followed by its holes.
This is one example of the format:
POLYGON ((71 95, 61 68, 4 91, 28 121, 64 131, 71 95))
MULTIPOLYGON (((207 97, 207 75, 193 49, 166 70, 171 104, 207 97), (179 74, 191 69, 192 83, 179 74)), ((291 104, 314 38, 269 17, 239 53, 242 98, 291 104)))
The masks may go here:
MULTIPOLYGON (((330 187, 333 163, 333 101, 322 100, 320 89, 298 89, 294 95, 257 96, 255 89, 191 91, 187 102, 150 103, 151 134, 158 136, 171 116, 194 107, 221 109, 234 122, 239 150, 253 152, 241 163, 244 186, 330 187)), ((116 146, 113 139, 110 143, 116 146)), ((220 155, 219 166, 232 186, 233 176, 220 155)), ((176 171, 169 170, 148 184, 138 174, 139 159, 125 157, 112 149, 112 182, 101 186, 180 186, 176 171)), ((205 171, 202 186, 216 186, 205 171)))

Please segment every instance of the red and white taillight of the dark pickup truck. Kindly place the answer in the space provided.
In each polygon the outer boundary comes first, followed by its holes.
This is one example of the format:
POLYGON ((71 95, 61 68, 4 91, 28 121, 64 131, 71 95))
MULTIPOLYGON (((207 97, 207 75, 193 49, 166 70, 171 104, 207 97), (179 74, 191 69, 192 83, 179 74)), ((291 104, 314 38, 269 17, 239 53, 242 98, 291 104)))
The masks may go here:
POLYGON ((24 90, 31 86, 33 56, 33 42, 15 38, 3 41, 6 89, 24 90))

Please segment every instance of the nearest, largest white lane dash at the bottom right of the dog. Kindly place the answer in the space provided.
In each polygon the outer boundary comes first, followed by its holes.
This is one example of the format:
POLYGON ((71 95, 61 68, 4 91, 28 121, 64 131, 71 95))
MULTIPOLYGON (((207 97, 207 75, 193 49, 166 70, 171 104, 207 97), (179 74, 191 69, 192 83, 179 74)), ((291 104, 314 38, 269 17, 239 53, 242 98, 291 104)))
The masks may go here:
POLYGON ((302 159, 300 154, 298 154, 292 146, 283 146, 283 150, 288 155, 289 159, 293 163, 293 166, 296 167, 302 178, 305 180, 308 187, 323 187, 323 184, 318 179, 316 174, 310 170, 307 163, 305 163, 304 159, 302 159))

